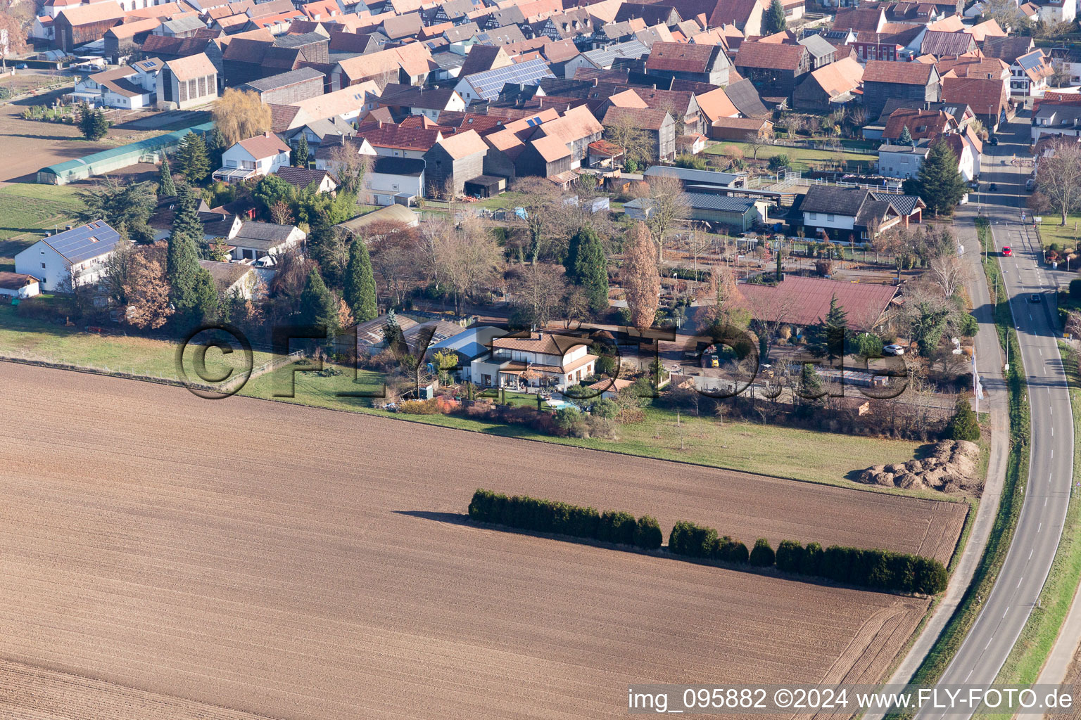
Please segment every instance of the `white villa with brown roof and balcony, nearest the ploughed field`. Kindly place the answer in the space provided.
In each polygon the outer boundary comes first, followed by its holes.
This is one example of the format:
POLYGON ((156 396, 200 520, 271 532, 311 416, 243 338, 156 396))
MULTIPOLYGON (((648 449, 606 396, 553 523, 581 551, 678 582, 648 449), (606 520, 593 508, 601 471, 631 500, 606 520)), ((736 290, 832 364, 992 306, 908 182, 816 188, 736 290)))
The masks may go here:
POLYGON ((597 355, 582 338, 530 332, 496 338, 492 351, 470 364, 472 382, 482 388, 564 390, 593 375, 597 355))

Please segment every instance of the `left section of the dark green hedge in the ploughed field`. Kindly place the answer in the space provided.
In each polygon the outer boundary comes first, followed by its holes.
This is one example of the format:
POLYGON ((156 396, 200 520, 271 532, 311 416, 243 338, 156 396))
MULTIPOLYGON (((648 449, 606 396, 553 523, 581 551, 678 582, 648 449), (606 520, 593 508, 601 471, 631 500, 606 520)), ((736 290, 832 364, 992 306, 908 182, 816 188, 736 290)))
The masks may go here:
POLYGON ((649 515, 635 519, 630 513, 579 507, 528 495, 508 498, 491 490, 477 490, 469 503, 469 518, 534 532, 553 532, 609 543, 657 549, 664 533, 649 515))

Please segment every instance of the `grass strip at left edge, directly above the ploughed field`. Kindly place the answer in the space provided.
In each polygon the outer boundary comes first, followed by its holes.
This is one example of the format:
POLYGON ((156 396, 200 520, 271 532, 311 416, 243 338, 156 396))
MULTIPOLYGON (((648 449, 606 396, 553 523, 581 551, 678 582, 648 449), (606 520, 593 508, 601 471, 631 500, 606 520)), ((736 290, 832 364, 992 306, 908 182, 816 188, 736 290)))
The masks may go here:
MULTIPOLYGON (((86 332, 84 327, 65 327, 27 317, 12 305, 0 305, 0 356, 176 380, 176 348, 177 343, 164 340, 86 332)), ((186 367, 192 367, 192 350, 187 350, 186 367)), ((252 359, 258 367, 268 362, 270 355, 256 352, 252 359)), ((210 377, 227 368, 239 368, 242 354, 224 355, 219 350, 210 349, 205 362, 210 377)), ((191 372, 189 369, 189 378, 198 381, 191 372)))

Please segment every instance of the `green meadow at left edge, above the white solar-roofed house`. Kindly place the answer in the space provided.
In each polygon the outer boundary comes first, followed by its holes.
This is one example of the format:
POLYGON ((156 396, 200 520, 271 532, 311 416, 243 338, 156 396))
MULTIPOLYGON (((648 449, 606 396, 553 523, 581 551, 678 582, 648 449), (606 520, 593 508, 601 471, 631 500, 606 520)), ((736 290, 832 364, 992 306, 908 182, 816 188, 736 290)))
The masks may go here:
POLYGON ((0 270, 15 269, 15 254, 61 230, 82 207, 78 188, 65 185, 15 184, 0 188, 0 270))

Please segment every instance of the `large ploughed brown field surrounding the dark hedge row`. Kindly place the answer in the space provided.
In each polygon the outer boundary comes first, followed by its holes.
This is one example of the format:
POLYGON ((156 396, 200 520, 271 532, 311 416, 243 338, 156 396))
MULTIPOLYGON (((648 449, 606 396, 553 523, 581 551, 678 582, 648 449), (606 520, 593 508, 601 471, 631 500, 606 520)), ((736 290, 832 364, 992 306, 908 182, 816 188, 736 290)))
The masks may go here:
POLYGON ((598 718, 875 681, 926 601, 456 521, 477 486, 948 558, 963 506, 0 365, 0 717, 598 718), (202 704, 202 705, 201 705, 202 704))

